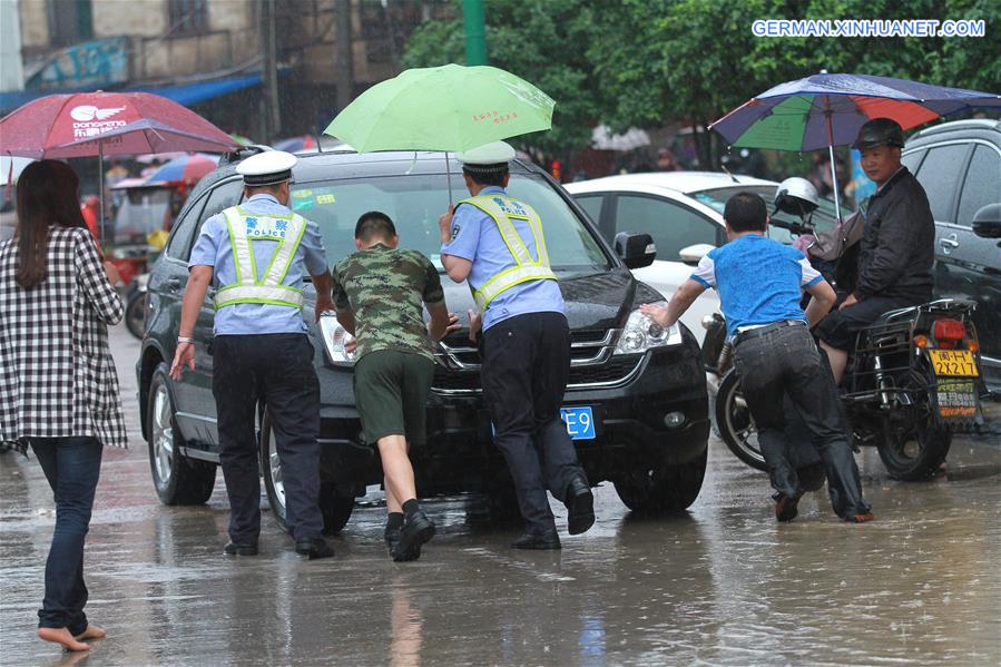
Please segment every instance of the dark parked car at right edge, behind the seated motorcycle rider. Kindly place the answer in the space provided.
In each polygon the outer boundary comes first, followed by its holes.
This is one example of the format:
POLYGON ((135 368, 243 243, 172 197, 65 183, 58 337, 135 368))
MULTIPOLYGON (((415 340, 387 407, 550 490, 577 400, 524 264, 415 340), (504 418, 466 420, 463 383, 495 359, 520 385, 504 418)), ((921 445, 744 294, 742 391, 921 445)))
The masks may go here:
POLYGON ((1001 205, 1001 120, 930 127, 907 139, 902 159, 928 193, 935 217, 935 296, 977 302, 973 323, 984 381, 1001 392, 1001 251, 988 230, 1001 205))

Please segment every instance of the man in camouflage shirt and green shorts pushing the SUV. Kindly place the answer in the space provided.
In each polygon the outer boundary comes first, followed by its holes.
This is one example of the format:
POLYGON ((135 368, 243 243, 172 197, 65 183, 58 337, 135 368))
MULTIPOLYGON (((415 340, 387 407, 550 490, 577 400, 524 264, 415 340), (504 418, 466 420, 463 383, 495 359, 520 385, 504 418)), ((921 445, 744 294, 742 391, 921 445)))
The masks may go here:
POLYGON ((393 220, 363 214, 354 228, 359 252, 334 269, 337 322, 357 337, 354 395, 365 439, 379 447, 385 475, 385 539, 393 560, 416 560, 434 523, 416 500, 410 444, 423 444, 425 406, 434 375, 431 339, 458 328, 445 307, 438 269, 418 251, 396 248, 393 220), (424 324, 428 306, 431 322, 424 324))

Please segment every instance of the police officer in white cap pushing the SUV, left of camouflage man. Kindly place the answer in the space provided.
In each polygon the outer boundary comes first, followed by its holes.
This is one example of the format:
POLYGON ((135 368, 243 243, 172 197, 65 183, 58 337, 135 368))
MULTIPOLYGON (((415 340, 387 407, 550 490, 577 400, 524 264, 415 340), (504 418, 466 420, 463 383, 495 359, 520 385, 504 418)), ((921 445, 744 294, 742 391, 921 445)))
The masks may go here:
POLYGON ((321 537, 320 383, 303 322, 303 276, 316 290, 316 317, 333 311, 331 275, 320 228, 288 209, 294 155, 268 151, 244 160, 245 197, 208 218, 188 263, 180 335, 170 376, 195 367, 192 333, 209 284, 214 296, 213 394, 219 462, 229 496, 230 556, 255 556, 261 487, 255 413, 261 401, 274 423, 288 531, 297 553, 333 556, 321 537))

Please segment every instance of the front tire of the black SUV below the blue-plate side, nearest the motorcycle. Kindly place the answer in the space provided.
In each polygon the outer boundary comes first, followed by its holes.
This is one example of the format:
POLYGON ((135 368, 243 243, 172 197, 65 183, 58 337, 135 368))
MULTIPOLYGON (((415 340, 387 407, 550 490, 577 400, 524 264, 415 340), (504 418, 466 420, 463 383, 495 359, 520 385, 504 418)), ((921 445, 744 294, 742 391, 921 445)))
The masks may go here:
POLYGON ((676 465, 637 468, 615 480, 616 493, 634 512, 661 514, 680 512, 695 502, 706 477, 709 448, 676 465))

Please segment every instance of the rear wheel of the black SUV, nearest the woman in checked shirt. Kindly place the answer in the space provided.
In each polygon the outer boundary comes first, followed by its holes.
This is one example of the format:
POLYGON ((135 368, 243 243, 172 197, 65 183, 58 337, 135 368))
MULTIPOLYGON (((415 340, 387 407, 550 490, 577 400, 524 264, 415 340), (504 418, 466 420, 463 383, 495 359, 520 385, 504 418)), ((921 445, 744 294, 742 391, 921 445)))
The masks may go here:
POLYGON ((167 364, 153 372, 147 401, 149 469, 156 493, 164 504, 202 504, 212 497, 216 465, 183 455, 185 444, 177 428, 167 364))

